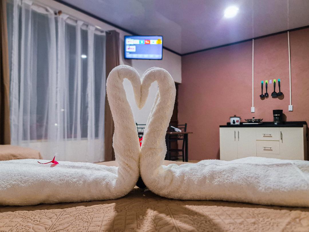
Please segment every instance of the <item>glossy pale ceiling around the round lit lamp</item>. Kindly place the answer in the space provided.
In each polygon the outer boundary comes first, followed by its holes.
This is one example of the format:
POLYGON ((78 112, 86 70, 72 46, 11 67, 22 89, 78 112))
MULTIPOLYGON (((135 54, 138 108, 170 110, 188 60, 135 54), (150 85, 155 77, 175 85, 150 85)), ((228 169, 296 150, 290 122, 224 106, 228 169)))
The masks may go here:
POLYGON ((180 54, 309 25, 308 0, 64 0, 180 54), (228 6, 238 14, 226 19, 228 6))

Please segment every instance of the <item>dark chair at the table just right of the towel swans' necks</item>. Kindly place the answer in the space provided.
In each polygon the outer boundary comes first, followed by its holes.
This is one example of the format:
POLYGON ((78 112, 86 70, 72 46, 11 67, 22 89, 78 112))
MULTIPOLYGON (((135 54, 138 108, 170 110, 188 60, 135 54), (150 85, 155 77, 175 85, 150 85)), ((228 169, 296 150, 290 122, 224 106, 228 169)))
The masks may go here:
MULTIPOLYGON (((182 132, 187 131, 187 123, 179 124, 174 126, 178 129, 180 129, 182 132)), ((170 125, 168 127, 169 132, 174 132, 175 129, 170 125)), ((176 158, 182 156, 182 161, 184 162, 184 135, 168 135, 167 136, 167 159, 171 160, 171 158, 176 158), (182 141, 181 148, 178 148, 178 141, 182 141), (174 146, 171 145, 171 143, 174 143, 174 146)))

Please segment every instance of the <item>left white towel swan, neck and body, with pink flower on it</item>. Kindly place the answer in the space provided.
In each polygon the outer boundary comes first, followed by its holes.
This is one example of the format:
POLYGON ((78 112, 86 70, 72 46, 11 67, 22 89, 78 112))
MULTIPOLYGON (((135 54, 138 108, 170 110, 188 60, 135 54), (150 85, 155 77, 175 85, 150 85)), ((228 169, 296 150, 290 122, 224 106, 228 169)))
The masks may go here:
POLYGON ((139 177, 140 146, 122 84, 124 78, 132 82, 135 97, 142 102, 138 73, 128 66, 114 68, 106 85, 115 122, 113 147, 119 167, 65 161, 43 165, 34 159, 0 161, 0 205, 108 200, 133 189, 139 177))

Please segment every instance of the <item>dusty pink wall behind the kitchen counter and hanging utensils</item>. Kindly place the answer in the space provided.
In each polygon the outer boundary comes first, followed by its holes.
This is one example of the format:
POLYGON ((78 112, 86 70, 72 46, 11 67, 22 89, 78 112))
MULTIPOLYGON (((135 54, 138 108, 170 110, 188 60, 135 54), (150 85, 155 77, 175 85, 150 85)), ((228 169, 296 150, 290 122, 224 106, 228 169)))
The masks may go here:
MULTIPOLYGON (((252 106, 252 42, 212 49, 182 57, 178 121, 188 123, 189 160, 219 159, 219 125, 236 114, 273 121, 282 109, 287 121, 309 124, 309 29, 290 32, 292 105, 289 100, 287 34, 254 41, 254 106, 252 106), (261 80, 281 79, 282 100, 261 100, 261 80)), ((264 85, 265 92, 265 85, 264 85)), ((273 84, 269 85, 269 95, 273 84)), ((276 92, 278 87, 276 86, 276 92)))

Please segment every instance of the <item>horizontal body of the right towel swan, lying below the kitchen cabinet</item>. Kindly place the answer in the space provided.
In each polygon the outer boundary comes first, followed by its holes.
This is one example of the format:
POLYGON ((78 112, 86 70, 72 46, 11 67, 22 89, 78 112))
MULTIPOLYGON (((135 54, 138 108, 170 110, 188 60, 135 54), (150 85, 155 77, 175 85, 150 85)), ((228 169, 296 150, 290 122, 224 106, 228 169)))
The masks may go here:
POLYGON ((247 157, 196 164, 141 164, 146 186, 158 195, 182 200, 226 200, 309 207, 309 161, 247 157))

